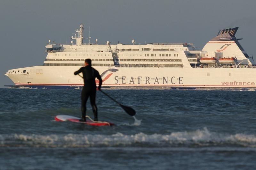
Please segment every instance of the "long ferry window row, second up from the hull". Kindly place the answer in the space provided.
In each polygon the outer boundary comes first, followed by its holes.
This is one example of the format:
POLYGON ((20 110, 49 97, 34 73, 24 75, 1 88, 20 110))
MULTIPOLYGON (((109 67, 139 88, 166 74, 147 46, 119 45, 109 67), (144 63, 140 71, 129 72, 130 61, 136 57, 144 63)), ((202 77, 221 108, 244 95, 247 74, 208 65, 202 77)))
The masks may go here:
MULTIPOLYGON (((85 59, 52 59, 46 58, 45 61, 85 61, 85 59)), ((113 59, 92 59, 92 61, 113 61, 113 59)), ((162 61, 162 62, 181 62, 181 59, 115 59, 117 61, 162 61)))

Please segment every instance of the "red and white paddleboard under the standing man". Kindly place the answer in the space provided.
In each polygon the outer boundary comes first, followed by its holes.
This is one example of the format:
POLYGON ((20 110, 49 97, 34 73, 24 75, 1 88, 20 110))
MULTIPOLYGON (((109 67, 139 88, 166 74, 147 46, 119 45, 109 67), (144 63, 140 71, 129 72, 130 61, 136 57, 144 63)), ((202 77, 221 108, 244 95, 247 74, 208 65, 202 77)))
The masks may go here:
POLYGON ((86 122, 80 122, 79 121, 80 118, 75 117, 75 116, 69 116, 69 115, 57 115, 54 117, 54 119, 58 122, 69 121, 69 122, 76 122, 76 123, 84 123, 84 124, 92 125, 92 126, 113 126, 113 125, 115 125, 114 123, 109 123, 109 122, 93 121, 88 117, 86 117, 86 122))

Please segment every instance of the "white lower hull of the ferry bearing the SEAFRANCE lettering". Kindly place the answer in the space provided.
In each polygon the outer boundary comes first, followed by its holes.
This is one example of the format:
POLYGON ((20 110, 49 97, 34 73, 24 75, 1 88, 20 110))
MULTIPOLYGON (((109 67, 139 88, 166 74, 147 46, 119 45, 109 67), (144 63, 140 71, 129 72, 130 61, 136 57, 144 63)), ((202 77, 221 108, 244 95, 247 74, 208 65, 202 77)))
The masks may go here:
MULTIPOLYGON (((43 73, 8 74, 17 86, 34 88, 77 88, 83 79, 74 72, 80 67, 36 66, 43 73)), ((211 87, 256 88, 256 69, 234 68, 109 68, 94 67, 103 76, 104 87, 211 87), (111 71, 116 69, 115 72, 111 71)))

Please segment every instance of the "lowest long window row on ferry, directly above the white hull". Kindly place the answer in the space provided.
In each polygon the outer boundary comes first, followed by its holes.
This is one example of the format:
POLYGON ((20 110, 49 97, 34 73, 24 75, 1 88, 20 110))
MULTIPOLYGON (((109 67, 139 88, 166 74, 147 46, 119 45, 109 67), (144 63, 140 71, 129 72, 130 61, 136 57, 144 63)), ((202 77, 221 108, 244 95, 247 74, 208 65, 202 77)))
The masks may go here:
MULTIPOLYGON (((80 66, 78 63, 44 63, 44 66, 80 66)), ((183 67, 183 64, 92 64, 93 67, 183 67)))

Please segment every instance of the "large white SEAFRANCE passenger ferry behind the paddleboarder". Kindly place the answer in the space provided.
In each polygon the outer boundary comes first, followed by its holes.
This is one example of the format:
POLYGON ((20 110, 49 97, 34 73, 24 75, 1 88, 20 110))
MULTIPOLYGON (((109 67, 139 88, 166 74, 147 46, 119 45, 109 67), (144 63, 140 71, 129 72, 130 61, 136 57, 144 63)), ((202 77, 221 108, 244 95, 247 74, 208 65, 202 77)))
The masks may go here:
POLYGON ((192 43, 83 43, 81 24, 71 44, 49 40, 42 66, 11 69, 5 75, 15 87, 79 88, 83 79, 74 72, 90 58, 108 88, 256 88, 255 61, 235 37, 237 29, 219 31, 196 50, 192 43))

